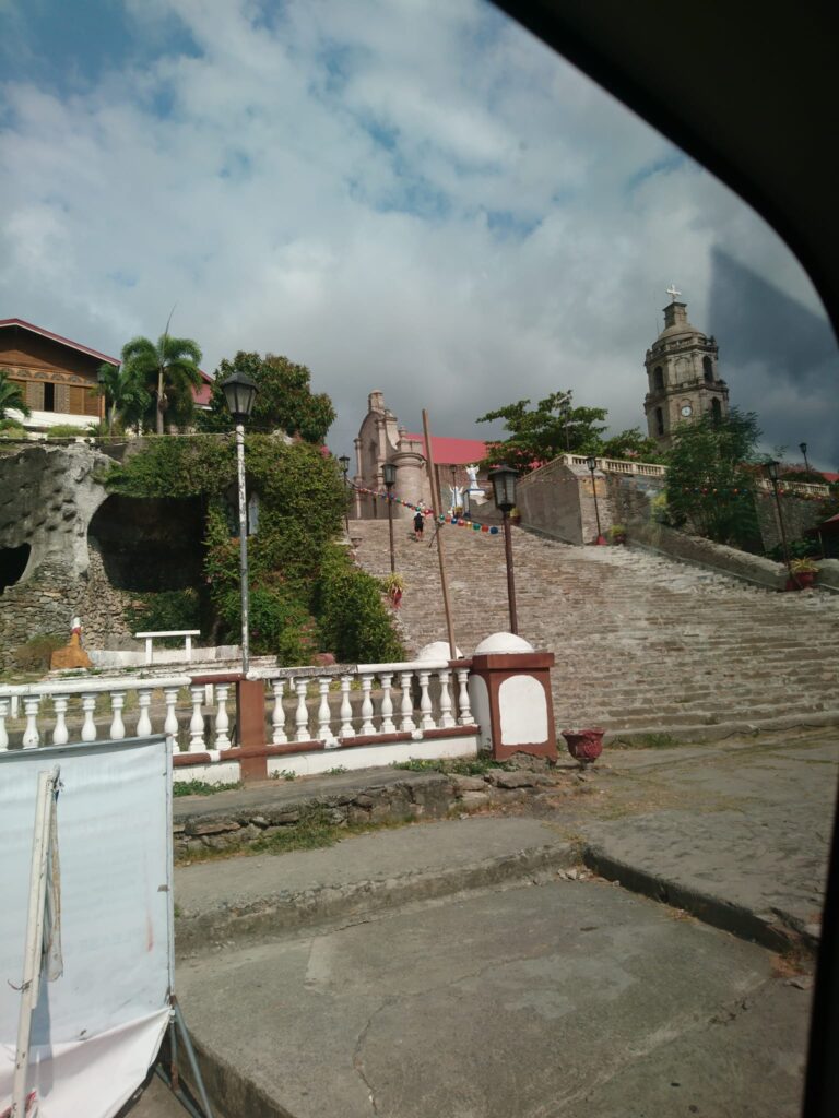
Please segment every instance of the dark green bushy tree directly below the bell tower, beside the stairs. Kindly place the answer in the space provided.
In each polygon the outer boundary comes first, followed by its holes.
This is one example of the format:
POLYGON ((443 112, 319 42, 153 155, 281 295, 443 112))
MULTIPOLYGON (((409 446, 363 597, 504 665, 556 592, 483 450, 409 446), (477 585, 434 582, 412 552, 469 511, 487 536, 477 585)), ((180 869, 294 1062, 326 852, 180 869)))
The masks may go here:
POLYGON ((667 456, 670 522, 717 543, 760 548, 754 503, 760 437, 754 411, 738 408, 720 419, 706 413, 679 424, 667 456))

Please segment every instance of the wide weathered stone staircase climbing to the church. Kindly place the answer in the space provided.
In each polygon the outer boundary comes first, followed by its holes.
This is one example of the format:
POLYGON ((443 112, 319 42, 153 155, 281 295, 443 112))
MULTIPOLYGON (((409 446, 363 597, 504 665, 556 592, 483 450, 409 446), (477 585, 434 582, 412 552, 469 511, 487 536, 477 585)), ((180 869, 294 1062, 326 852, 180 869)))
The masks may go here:
MULTIPOLYGON (((446 525, 458 646, 470 655, 509 627, 501 534, 446 525)), ((513 528, 519 634, 556 655, 557 727, 673 730, 835 714, 839 596, 775 594, 620 547, 573 547, 513 528)), ((395 521, 409 653, 446 638, 433 531, 395 521)), ((389 572, 386 521, 350 523, 357 559, 389 572)))

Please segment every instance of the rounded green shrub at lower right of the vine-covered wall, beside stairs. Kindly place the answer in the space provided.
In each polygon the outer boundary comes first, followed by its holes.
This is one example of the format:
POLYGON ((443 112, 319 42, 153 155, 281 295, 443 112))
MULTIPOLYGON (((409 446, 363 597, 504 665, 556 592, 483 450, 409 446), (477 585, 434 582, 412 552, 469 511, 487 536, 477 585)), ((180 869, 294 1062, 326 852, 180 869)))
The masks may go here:
POLYGON ((346 549, 330 544, 315 587, 314 613, 321 647, 341 663, 386 663, 403 660, 378 581, 353 567, 346 549))

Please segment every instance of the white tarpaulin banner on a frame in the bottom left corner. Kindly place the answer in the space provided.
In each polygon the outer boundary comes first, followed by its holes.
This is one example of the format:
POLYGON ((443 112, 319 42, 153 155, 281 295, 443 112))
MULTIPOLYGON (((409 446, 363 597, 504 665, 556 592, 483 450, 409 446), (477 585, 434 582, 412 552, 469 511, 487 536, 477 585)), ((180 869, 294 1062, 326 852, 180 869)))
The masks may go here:
POLYGON ((0 1114, 11 1103, 38 774, 56 765, 63 973, 43 974, 29 1084, 39 1118, 112 1118, 169 1023, 171 754, 162 737, 0 752, 0 1114))

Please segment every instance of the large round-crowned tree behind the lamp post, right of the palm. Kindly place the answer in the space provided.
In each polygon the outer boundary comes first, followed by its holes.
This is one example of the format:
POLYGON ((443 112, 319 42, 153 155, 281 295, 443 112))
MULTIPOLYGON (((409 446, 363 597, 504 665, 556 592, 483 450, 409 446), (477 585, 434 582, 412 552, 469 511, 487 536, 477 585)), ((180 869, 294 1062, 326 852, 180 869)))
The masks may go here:
POLYGON ((254 410, 248 421, 251 430, 284 430, 299 434, 307 443, 322 444, 334 423, 336 410, 326 392, 312 392, 311 372, 304 364, 294 364, 287 357, 246 353, 242 350, 233 361, 223 360, 216 370, 209 411, 198 417, 201 430, 230 430, 233 418, 227 410, 221 381, 234 372, 249 377, 257 386, 254 410))

